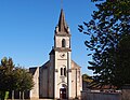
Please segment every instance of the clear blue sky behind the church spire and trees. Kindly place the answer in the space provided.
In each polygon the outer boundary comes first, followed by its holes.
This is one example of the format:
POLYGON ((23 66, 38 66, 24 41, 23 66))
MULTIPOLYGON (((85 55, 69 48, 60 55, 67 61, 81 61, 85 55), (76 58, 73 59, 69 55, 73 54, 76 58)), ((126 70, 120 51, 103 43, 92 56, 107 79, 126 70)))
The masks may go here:
POLYGON ((72 33, 72 59, 88 70, 87 35, 78 25, 89 22, 95 10, 91 0, 0 0, 0 59, 11 57, 15 66, 39 67, 49 60, 61 8, 72 33))

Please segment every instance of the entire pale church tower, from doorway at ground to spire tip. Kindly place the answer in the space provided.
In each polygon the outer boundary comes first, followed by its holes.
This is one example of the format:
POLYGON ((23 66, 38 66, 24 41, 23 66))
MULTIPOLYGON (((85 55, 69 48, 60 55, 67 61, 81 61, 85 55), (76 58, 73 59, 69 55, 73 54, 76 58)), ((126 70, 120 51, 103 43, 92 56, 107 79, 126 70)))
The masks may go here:
POLYGON ((70 31, 65 22, 63 9, 54 31, 54 98, 69 99, 72 82, 70 31))

